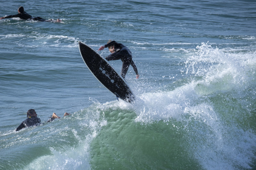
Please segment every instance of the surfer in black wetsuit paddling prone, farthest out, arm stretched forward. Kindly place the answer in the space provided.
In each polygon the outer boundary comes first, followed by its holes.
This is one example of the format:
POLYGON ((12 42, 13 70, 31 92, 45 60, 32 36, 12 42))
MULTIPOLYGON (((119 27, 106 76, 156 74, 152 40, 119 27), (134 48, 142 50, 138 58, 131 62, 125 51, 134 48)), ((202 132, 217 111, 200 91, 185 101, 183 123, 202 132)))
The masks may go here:
MULTIPOLYGON (((16 15, 9 15, 7 17, 1 17, 0 20, 6 19, 6 18, 18 18, 19 17, 20 19, 25 19, 25 20, 31 19, 31 20, 35 20, 35 21, 54 22, 53 19, 46 20, 41 17, 32 17, 31 15, 29 15, 27 12, 24 11, 24 8, 22 6, 19 7, 18 12, 19 13, 16 15)), ((61 20, 57 19, 55 22, 61 22, 61 20)))

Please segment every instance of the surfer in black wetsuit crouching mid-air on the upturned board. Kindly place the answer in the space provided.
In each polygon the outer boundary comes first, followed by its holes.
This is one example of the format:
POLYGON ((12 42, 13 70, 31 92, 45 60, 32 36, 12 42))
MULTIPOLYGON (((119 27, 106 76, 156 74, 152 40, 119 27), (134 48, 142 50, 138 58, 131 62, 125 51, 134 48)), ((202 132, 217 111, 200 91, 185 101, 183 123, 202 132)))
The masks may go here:
POLYGON ((101 46, 99 50, 103 50, 106 47, 108 47, 108 50, 111 52, 111 54, 106 57, 107 61, 121 59, 121 61, 123 62, 121 70, 121 76, 123 78, 125 77, 130 65, 132 65, 133 70, 136 73, 136 79, 139 78, 140 75, 138 73, 137 67, 132 60, 132 52, 126 46, 121 43, 117 43, 116 41, 109 40, 108 43, 104 46, 101 46))

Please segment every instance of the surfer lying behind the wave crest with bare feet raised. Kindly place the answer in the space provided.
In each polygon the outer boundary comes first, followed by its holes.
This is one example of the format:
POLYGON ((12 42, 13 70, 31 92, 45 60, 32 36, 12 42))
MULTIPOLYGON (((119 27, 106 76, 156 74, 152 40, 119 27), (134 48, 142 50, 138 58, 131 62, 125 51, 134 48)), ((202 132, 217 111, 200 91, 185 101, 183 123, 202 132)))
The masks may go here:
MULTIPOLYGON (((64 114, 64 116, 68 116, 68 115, 70 114, 67 112, 64 114)), ((41 123, 41 119, 37 117, 36 111, 34 109, 28 110, 27 117, 28 119, 21 122, 20 126, 16 128, 16 131, 19 131, 22 128, 28 128, 31 126, 38 126, 38 125, 44 124, 44 123, 41 123)), ((52 117, 50 117, 50 119, 47 122, 50 122, 56 118, 60 119, 60 117, 57 116, 56 113, 53 113, 52 117)))

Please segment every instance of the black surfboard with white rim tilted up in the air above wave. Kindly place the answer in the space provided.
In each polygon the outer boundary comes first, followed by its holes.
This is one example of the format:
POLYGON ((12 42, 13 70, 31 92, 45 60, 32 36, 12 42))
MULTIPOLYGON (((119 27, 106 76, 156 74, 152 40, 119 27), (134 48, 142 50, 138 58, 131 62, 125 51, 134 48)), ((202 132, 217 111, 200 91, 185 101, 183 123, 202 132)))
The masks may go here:
POLYGON ((105 58, 93 50, 90 46, 79 41, 80 54, 84 60, 85 65, 92 72, 100 83, 116 95, 117 99, 120 98, 126 102, 134 101, 132 90, 127 85, 123 77, 121 77, 113 67, 108 64, 105 58))

